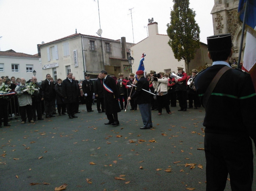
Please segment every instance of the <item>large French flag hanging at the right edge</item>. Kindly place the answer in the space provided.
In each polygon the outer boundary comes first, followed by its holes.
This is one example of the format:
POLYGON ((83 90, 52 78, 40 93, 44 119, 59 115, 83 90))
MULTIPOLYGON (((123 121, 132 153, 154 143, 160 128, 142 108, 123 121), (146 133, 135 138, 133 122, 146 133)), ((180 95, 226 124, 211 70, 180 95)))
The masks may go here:
POLYGON ((256 0, 240 0, 238 13, 240 14, 241 21, 243 21, 245 15, 245 25, 247 27, 242 69, 251 74, 256 91, 256 0), (249 5, 247 5, 245 13, 246 2, 249 5))

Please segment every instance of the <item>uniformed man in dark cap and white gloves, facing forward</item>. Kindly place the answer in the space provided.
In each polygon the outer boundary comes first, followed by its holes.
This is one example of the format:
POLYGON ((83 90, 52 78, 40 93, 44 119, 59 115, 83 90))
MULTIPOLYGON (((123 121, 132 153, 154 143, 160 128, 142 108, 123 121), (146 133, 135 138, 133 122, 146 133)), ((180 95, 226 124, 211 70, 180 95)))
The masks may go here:
POLYGON ((94 90, 93 90, 93 81, 90 80, 89 74, 85 74, 85 80, 83 80, 82 89, 83 89, 83 93, 85 94, 85 103, 86 103, 87 112, 92 112, 94 90))

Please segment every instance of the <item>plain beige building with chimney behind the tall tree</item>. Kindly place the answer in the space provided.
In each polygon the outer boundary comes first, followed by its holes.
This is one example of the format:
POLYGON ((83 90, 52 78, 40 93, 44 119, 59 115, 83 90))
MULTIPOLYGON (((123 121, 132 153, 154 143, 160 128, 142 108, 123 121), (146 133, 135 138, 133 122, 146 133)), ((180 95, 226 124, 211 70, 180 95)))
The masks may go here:
MULTIPOLYGON (((148 23, 148 37, 130 48, 132 57, 134 58, 133 71, 137 71, 143 52, 146 54, 143 63, 147 73, 150 70, 154 70, 157 73, 169 73, 169 71, 177 73, 177 67, 185 68, 184 60, 178 62, 174 58, 168 41, 168 35, 158 34, 157 22, 148 23)), ((207 56, 207 45, 201 43, 200 46, 201 48, 197 50, 195 59, 189 65, 190 72, 192 69, 200 69, 206 64, 212 63, 207 56)))

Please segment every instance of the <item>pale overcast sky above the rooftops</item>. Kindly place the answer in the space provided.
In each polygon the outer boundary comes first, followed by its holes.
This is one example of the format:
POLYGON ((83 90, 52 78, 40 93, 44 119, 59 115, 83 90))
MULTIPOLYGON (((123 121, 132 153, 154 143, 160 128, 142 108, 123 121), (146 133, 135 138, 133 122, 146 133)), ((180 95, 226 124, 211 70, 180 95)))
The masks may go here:
MULTIPOLYGON (((214 0, 190 0, 196 12, 200 41, 213 35, 210 14, 214 0)), ((147 37, 148 19, 158 23, 159 34, 167 34, 172 0, 99 0, 102 37, 138 43, 147 37), (131 12, 132 9, 132 19, 131 12), (132 30, 133 21, 133 30, 132 30)), ((0 0, 0 50, 37 53, 37 44, 75 34, 97 36, 100 28, 97 0, 0 0)))

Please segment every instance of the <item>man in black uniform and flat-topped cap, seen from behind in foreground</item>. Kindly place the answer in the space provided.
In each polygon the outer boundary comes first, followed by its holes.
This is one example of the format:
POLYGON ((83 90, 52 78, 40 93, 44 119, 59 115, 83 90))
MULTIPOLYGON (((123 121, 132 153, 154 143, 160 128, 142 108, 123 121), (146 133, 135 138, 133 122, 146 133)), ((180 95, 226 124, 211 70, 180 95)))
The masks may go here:
POLYGON ((207 37, 207 44, 213 65, 198 73, 195 79, 200 101, 207 103, 203 104, 206 108, 203 122, 206 190, 224 190, 229 174, 232 191, 251 191, 253 152, 250 137, 256 141, 255 89, 249 73, 229 69, 233 53, 231 34, 207 37), (229 68, 213 91, 209 91, 208 102, 203 100, 210 82, 224 67, 229 68))

